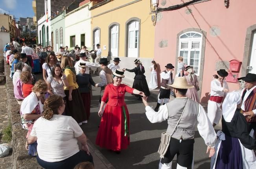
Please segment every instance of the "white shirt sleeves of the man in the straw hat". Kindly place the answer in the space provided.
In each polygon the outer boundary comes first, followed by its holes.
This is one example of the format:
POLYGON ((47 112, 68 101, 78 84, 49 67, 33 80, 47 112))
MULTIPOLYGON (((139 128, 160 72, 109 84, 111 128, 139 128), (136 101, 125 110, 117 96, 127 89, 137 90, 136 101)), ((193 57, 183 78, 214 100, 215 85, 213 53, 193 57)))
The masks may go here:
MULTIPOLYGON (((145 110, 147 119, 151 123, 162 122, 168 119, 168 108, 166 104, 160 106, 159 111, 157 112, 155 112, 155 110, 153 110, 150 106, 146 106, 145 110)), ((201 137, 203 137, 205 144, 207 146, 214 147, 217 138, 216 133, 201 104, 199 104, 199 111, 197 115, 197 129, 201 137)))

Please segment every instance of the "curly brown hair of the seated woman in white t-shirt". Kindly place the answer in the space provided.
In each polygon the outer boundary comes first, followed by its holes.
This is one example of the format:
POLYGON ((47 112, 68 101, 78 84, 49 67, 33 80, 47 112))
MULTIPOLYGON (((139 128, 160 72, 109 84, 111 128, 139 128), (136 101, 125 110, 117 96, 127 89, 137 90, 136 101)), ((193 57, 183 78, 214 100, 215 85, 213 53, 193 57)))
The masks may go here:
POLYGON ((44 119, 52 119, 54 114, 58 113, 58 108, 63 104, 63 98, 60 95, 52 95, 44 101, 44 119))

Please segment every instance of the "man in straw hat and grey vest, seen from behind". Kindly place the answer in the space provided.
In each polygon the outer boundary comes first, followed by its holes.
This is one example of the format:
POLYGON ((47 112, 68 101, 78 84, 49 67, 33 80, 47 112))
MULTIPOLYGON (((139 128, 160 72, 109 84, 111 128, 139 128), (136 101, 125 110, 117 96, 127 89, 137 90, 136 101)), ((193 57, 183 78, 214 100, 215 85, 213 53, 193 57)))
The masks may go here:
POLYGON ((215 153, 216 133, 203 106, 186 97, 188 88, 193 88, 188 85, 186 78, 176 77, 173 85, 169 86, 173 87, 175 99, 160 106, 157 112, 149 106, 147 97, 142 99, 147 119, 151 123, 168 121, 166 133, 162 133, 162 137, 166 136, 168 139, 161 139, 158 150, 161 157, 159 169, 171 169, 175 155, 177 169, 192 169, 196 126, 207 145, 206 153, 210 152, 209 157, 215 153))

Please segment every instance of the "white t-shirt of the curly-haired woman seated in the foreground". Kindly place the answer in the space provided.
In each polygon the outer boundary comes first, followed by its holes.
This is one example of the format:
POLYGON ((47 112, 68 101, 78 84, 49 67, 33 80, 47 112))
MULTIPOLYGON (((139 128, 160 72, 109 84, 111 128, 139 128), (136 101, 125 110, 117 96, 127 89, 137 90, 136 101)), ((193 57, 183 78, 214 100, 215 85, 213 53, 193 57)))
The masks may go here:
POLYGON ((59 162, 79 152, 77 138, 83 130, 70 116, 53 115, 51 120, 40 117, 31 136, 37 137, 37 153, 46 162, 59 162))

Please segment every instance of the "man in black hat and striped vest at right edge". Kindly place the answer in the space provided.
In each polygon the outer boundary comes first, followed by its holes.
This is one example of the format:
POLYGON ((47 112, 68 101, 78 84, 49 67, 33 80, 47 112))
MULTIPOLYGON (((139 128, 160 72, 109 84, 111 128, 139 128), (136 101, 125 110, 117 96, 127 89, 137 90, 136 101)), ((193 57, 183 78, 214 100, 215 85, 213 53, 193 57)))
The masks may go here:
POLYGON ((249 124, 249 132, 253 129, 256 138, 256 74, 249 73, 240 79, 245 81, 245 88, 241 91, 241 111, 249 124))

